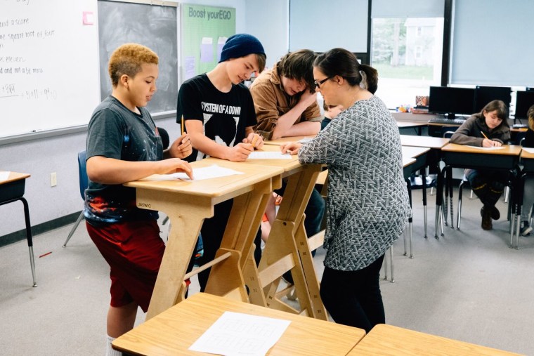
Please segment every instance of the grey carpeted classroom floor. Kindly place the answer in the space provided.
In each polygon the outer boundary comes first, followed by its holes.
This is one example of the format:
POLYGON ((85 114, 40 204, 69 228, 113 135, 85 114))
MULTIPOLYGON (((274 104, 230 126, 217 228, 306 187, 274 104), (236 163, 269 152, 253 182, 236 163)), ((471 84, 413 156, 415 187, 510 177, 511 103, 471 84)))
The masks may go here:
MULTIPOLYGON (((523 237, 519 250, 509 249, 507 220, 481 230, 480 202, 464 197, 462 230, 445 227, 445 236, 434 239, 430 205, 424 239, 421 190, 413 192, 413 202, 414 258, 403 256, 403 243, 396 242, 395 282, 382 281, 386 322, 534 355, 534 236, 523 237)), ((501 200, 498 206, 505 216, 507 205, 501 200)), ((108 265, 84 225, 63 249, 70 228, 34 237, 37 288, 25 242, 0 248, 2 355, 103 355, 108 265)), ((323 249, 315 256, 319 276, 324 256, 323 249)), ((191 293, 197 290, 193 283, 191 293)), ((137 323, 143 319, 140 310, 137 323)))

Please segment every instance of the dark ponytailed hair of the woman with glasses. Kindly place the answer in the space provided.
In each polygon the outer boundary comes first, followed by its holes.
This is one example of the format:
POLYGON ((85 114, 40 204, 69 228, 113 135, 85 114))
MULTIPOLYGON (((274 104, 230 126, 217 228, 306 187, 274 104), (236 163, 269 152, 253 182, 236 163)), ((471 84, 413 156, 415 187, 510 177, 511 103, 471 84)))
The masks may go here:
POLYGON ((370 65, 360 65, 356 55, 344 48, 334 48, 321 53, 315 58, 313 66, 318 67, 327 77, 339 75, 351 86, 362 86, 373 94, 377 91, 377 70, 370 65))

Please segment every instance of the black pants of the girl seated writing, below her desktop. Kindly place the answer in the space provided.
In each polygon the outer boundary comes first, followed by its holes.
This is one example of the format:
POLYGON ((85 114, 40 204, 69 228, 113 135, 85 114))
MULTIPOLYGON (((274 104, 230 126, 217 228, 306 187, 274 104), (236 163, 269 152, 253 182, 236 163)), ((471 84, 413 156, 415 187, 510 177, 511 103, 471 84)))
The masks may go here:
POLYGON ((482 204, 495 206, 507 185, 509 173, 504 171, 486 171, 467 169, 465 176, 471 189, 482 204))

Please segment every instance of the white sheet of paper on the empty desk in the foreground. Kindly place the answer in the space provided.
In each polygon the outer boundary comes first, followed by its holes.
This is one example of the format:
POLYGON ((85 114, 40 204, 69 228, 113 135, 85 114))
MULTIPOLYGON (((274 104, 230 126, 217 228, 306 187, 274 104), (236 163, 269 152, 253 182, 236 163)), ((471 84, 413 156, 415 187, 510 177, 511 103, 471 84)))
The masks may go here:
POLYGON ((289 320, 224 312, 189 350, 225 356, 265 355, 289 323, 289 320))

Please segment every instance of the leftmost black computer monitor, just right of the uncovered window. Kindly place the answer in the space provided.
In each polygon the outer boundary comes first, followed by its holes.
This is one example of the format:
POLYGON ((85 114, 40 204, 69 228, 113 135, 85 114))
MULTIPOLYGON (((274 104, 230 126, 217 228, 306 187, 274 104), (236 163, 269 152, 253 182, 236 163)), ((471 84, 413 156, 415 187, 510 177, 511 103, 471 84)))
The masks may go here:
POLYGON ((473 114, 474 100, 474 88, 431 86, 429 112, 447 114, 448 119, 452 120, 455 114, 473 114))

